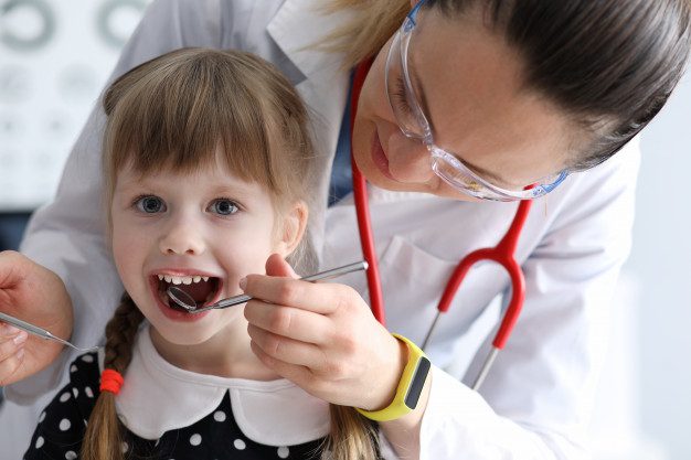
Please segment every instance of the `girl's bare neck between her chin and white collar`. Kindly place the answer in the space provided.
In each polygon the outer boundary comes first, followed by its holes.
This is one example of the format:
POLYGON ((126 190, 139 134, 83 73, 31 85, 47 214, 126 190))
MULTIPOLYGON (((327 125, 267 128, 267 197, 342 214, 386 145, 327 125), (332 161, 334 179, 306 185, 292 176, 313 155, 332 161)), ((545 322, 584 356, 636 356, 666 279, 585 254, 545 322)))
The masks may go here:
POLYGON ((230 378, 274 381, 278 374, 266 367, 252 352, 247 329, 226 330, 203 343, 179 345, 168 342, 151 325, 149 334, 153 346, 176 367, 198 374, 217 375, 230 378))

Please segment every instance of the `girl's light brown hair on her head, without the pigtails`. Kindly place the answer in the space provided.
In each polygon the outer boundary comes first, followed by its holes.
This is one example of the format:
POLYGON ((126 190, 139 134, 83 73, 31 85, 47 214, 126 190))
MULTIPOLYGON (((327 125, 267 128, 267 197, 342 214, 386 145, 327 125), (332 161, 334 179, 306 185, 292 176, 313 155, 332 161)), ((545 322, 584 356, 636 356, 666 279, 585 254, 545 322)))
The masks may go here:
POLYGON ((123 168, 193 172, 215 164, 217 147, 228 170, 276 200, 308 194, 315 153, 307 110, 283 74, 257 56, 177 50, 119 77, 103 105, 107 203, 123 168))

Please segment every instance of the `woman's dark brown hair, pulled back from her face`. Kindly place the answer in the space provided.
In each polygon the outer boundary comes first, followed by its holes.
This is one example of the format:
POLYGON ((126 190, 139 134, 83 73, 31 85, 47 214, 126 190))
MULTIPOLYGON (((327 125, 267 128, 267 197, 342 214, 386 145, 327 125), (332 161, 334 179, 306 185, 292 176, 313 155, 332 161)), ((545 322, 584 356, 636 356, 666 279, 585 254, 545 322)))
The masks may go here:
MULTIPOLYGON (((691 47, 689 0, 426 0, 449 18, 480 9, 523 58, 524 87, 584 129, 568 167, 605 161, 655 117, 681 78, 691 47)), ((372 57, 395 33, 410 0, 332 0, 352 19, 329 38, 348 66, 372 57)))

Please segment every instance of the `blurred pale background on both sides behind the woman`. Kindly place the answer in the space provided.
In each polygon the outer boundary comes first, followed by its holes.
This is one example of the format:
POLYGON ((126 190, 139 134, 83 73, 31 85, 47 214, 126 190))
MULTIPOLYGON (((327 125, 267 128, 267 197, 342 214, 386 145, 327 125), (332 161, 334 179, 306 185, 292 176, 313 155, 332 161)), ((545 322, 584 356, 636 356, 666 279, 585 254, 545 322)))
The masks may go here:
MULTIPOLYGON (((0 250, 62 165, 148 0, 0 0, 0 250)), ((691 75, 644 132, 634 249, 593 435, 596 460, 691 458, 691 75)), ((1 403, 0 403, 1 404, 1 403)), ((0 427, 1 428, 1 427, 0 427)))

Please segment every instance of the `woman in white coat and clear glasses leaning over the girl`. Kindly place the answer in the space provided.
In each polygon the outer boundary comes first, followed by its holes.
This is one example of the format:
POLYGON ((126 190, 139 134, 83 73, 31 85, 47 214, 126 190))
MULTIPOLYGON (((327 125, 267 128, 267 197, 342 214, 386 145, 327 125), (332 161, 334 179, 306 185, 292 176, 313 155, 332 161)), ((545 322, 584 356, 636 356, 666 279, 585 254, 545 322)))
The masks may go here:
MULTIPOLYGON (((183 46, 243 49, 279 66, 313 110, 322 147, 313 162, 315 255, 323 268, 359 257, 352 194, 338 193, 327 207, 331 167, 338 182, 351 143, 369 181, 386 327, 418 344, 458 260, 496 245, 518 205, 482 199, 553 189, 519 239, 525 304, 483 386, 475 392, 444 370, 456 352, 470 353, 457 344, 509 287, 491 264, 469 272, 435 329, 426 349, 434 366, 415 408, 381 427, 405 459, 586 458, 607 304, 630 245, 636 146, 591 168, 667 100, 689 52, 689 2, 426 0, 411 12, 415 3, 334 0, 325 11, 309 0, 159 0, 114 75, 183 46), (366 78, 351 100, 355 66, 366 78), (344 113, 353 110, 351 138, 344 113)), ((96 108, 55 202, 32 220, 26 257, 0 255, 0 311, 78 345, 102 340, 121 290, 98 199, 103 120, 96 108)), ((372 317, 365 279, 349 279, 354 289, 310 285, 287 278, 294 272, 277 258, 267 275, 243 284, 270 302, 245 308, 257 355, 331 403, 386 411, 410 349, 372 317)), ((12 384, 1 445, 18 446, 6 454, 19 458, 70 356, 8 329, 0 350, 0 383, 12 384)))

